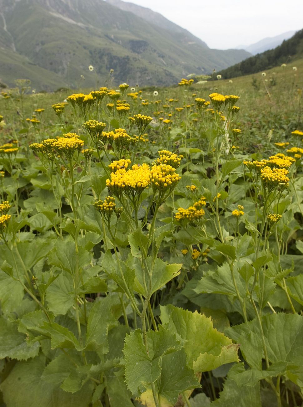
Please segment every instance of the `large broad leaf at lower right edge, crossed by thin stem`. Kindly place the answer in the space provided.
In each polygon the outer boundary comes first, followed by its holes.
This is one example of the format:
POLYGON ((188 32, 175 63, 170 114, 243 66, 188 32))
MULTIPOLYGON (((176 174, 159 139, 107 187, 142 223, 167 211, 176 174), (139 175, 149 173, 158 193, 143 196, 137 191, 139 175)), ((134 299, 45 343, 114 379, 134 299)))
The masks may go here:
MULTIPOLYGON (((227 329, 227 334, 238 341, 243 357, 253 370, 259 370, 262 376, 286 374, 294 383, 303 386, 303 317, 297 314, 267 314, 262 317, 270 368, 262 371, 264 351, 258 321, 227 329), (285 373, 286 372, 286 373, 285 373)), ((244 372, 245 377, 248 375, 244 372)), ((236 377, 236 376, 234 376, 236 377)), ((238 383, 242 384, 240 374, 238 383)))

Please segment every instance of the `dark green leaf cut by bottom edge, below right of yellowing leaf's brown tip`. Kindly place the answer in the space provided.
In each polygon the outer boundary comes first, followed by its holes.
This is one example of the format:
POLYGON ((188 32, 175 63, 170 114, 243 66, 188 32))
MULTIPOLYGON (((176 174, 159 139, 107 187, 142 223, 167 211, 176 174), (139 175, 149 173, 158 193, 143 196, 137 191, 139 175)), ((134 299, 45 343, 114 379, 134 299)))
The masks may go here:
MULTIPOLYGON (((235 368, 237 368, 237 365, 230 370, 230 373, 235 368)), ((262 407, 260 385, 258 383, 253 387, 238 387, 237 383, 227 376, 219 400, 214 401, 211 405, 220 407, 262 407)))

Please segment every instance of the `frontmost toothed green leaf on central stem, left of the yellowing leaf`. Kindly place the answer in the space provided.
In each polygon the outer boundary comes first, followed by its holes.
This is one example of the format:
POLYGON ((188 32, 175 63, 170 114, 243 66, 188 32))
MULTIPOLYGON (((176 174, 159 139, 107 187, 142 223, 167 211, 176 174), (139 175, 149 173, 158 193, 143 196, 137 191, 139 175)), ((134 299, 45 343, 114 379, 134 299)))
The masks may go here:
POLYGON ((161 359, 165 354, 181 348, 174 335, 159 326, 157 332, 147 332, 149 353, 143 344, 140 329, 126 335, 123 349, 125 381, 132 394, 140 396, 161 374, 161 359))

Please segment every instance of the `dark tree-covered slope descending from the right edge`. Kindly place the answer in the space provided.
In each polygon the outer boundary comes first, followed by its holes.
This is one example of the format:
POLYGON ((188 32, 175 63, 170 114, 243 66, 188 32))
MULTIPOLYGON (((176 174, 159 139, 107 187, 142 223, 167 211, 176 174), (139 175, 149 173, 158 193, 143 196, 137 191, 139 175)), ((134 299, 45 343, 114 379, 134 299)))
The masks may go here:
POLYGON ((273 50, 249 57, 240 63, 221 70, 219 74, 223 79, 235 78, 254 74, 283 63, 294 63, 303 57, 303 29, 297 31, 290 39, 286 39, 273 50))

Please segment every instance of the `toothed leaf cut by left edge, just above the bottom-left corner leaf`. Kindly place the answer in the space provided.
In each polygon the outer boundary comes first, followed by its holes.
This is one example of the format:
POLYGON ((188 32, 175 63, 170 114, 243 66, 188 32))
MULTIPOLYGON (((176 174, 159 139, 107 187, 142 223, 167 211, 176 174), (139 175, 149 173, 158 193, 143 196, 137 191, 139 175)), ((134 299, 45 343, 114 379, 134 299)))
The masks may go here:
POLYGON ((40 345, 38 343, 28 346, 26 335, 18 332, 17 321, 8 321, 0 317, 0 359, 27 360, 37 356, 40 345))

